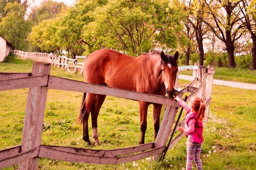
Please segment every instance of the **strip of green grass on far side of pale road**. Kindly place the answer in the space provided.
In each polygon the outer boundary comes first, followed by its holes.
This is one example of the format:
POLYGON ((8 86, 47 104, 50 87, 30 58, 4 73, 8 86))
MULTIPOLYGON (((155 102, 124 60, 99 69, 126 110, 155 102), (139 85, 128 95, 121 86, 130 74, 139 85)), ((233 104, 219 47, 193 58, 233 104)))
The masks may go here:
MULTIPOLYGON (((179 74, 192 75, 193 71, 181 71, 179 74)), ((251 71, 249 69, 228 69, 216 67, 213 78, 233 82, 256 84, 256 71, 251 71)))

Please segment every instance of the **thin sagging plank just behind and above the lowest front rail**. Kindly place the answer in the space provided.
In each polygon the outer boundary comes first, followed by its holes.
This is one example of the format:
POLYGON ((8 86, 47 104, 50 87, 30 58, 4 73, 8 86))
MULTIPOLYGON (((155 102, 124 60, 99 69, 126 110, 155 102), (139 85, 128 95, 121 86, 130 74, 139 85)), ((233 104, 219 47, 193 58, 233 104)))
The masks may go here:
POLYGON ((62 147, 62 146, 47 146, 42 145, 42 147, 50 148, 53 150, 69 152, 73 154, 79 155, 87 155, 87 156, 106 156, 114 157, 119 155, 126 155, 126 154, 134 154, 135 152, 141 152, 145 150, 149 150, 154 147, 154 143, 147 143, 144 145, 134 146, 134 147, 127 147, 127 148, 117 148, 114 150, 90 150, 85 148, 76 148, 76 147, 62 147))

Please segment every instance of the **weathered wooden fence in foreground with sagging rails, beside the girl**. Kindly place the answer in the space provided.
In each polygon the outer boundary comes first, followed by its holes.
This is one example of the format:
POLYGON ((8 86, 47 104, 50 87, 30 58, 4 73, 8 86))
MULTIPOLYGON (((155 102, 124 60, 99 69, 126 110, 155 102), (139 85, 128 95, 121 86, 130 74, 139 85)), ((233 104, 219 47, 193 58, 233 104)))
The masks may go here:
MULTIPOLYGON (((153 155, 158 157, 166 150, 168 138, 172 131, 176 130, 172 129, 172 127, 180 105, 175 100, 159 95, 142 94, 51 76, 49 75, 50 68, 51 64, 49 63, 35 62, 32 73, 0 73, 0 91, 29 88, 22 143, 19 146, 0 151, 0 169, 14 164, 19 164, 19 169, 37 169, 39 157, 73 163, 118 164, 132 162, 153 155), (167 107, 154 143, 114 150, 47 146, 41 145, 41 137, 48 89, 110 95, 164 104, 167 107)), ((188 101, 192 96, 200 96, 203 98, 209 111, 212 75, 214 74, 213 67, 199 66, 194 71, 194 74, 196 78, 187 87, 179 91, 179 96, 182 97, 187 92, 191 93, 188 96, 188 101)), ((207 117, 208 111, 205 113, 207 117)), ((176 124, 183 123, 184 120, 176 122, 176 124)), ((181 137, 183 137, 183 133, 176 136, 169 148, 174 146, 181 137)))

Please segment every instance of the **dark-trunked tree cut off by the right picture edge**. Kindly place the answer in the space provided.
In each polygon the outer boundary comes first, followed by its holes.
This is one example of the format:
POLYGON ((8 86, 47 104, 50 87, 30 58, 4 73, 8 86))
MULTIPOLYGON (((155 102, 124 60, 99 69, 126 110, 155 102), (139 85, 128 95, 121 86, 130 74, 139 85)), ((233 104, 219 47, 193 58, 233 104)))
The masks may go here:
POLYGON ((256 69, 256 1, 242 1, 240 9, 243 15, 243 25, 251 35, 253 46, 251 48, 251 70, 256 69))

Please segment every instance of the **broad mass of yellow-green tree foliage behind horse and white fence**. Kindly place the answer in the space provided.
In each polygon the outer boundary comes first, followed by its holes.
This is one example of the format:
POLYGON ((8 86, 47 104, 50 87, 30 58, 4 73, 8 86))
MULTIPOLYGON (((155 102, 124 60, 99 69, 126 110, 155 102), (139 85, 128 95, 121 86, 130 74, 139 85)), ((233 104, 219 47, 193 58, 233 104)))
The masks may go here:
POLYGON ((167 7, 168 1, 81 0, 67 15, 32 28, 28 39, 34 48, 47 52, 65 50, 72 58, 101 48, 133 56, 150 52, 156 45, 170 50, 186 38, 181 33, 180 9, 167 7), (48 29, 52 25, 54 31, 48 29))

